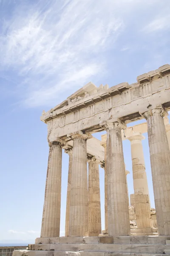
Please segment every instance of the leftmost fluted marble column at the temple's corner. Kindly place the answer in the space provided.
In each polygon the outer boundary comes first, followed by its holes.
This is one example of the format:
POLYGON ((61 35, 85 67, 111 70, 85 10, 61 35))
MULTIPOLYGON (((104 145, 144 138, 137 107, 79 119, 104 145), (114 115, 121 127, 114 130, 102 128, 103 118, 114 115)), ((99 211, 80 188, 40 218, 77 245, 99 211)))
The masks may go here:
POLYGON ((61 206, 62 147, 59 141, 50 143, 41 237, 59 237, 61 206))

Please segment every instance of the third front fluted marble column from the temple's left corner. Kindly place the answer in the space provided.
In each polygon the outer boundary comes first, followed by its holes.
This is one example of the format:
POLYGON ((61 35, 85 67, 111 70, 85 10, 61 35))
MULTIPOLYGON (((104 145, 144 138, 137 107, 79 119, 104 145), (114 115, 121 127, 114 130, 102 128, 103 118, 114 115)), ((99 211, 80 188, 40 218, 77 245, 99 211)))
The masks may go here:
POLYGON ((107 131, 107 183, 108 234, 130 236, 129 208, 121 130, 125 124, 119 119, 108 120, 107 131))

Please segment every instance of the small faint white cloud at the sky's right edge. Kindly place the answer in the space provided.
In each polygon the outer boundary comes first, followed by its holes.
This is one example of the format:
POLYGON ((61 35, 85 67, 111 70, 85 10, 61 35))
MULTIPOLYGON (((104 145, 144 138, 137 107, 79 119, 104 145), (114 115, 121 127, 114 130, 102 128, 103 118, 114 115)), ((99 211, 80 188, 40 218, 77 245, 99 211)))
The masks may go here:
POLYGON ((165 15, 163 17, 157 17, 152 20, 149 24, 147 24, 143 31, 150 33, 156 32, 159 30, 169 29, 170 28, 170 15, 165 15))

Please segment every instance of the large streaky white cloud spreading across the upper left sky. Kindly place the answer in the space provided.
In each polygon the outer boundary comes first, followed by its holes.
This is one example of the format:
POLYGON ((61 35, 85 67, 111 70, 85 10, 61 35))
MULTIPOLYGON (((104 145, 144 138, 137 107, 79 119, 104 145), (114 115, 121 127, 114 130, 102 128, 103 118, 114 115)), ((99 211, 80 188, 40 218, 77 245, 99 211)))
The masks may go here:
MULTIPOLYGON (((0 0, 0 7, 6 2, 0 0)), ((10 0, 13 11, 0 20, 0 76, 7 72, 7 80, 15 77, 11 87, 24 105, 52 107, 105 74, 105 51, 125 29, 125 18, 156 2, 160 0, 10 0)))

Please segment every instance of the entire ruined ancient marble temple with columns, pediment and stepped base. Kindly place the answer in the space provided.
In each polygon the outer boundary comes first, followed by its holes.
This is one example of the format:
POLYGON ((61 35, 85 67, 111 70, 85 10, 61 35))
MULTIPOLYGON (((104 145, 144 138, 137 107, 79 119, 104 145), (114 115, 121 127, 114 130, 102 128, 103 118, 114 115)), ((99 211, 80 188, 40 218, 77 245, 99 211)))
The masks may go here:
POLYGON ((108 87, 88 83, 43 111, 49 157, 41 236, 14 256, 170 255, 170 65, 108 87), (146 122, 127 128, 139 119, 146 122), (101 141, 93 137, 106 131, 101 141), (148 133, 155 207, 142 140, 148 133), (134 193, 128 198, 122 140, 131 145, 134 193), (62 149, 69 155, 65 237, 59 237, 62 149), (88 163, 88 170, 87 170, 88 163), (99 165, 105 172, 101 230, 99 165))

